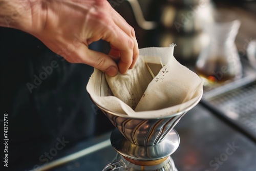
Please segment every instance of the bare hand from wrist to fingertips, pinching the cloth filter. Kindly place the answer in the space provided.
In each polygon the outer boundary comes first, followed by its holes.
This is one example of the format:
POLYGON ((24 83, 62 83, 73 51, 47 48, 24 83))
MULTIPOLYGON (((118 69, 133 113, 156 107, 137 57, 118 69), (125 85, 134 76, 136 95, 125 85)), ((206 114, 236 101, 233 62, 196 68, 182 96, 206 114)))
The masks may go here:
MULTIPOLYGON (((32 1, 31 1, 32 2, 32 1)), ((86 63, 114 76, 132 69, 139 55, 134 29, 106 0, 41 0, 31 3, 31 23, 23 30, 72 63, 86 63), (109 55, 88 49, 110 42, 109 55), (117 61, 117 63, 115 62, 117 61)))

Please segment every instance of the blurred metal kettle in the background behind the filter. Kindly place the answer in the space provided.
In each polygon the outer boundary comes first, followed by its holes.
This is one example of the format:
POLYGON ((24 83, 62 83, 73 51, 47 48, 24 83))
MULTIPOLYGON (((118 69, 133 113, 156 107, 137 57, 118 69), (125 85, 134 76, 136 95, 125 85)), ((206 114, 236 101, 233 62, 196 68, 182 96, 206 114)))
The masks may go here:
POLYGON ((147 46, 165 47, 177 44, 174 55, 181 61, 195 62, 208 36, 202 23, 210 18, 214 4, 210 0, 126 0, 138 26, 146 34, 147 46), (147 14, 143 14, 147 7, 147 14), (152 20, 146 20, 144 15, 152 20))

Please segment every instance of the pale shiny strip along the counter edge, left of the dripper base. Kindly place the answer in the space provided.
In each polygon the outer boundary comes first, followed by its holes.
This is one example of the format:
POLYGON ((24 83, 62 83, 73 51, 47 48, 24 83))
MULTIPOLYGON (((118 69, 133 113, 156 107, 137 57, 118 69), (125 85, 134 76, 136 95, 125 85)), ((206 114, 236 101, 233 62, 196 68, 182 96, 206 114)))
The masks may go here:
MULTIPOLYGON (((61 164, 70 162, 72 160, 78 159, 80 157, 89 155, 91 153, 99 151, 100 149, 108 147, 108 146, 111 146, 111 143, 110 143, 109 139, 105 140, 105 141, 102 141, 102 142, 100 142, 98 144, 95 144, 93 146, 90 146, 88 148, 85 148, 85 149, 83 149, 83 150, 81 150, 81 151, 79 151, 77 153, 74 153, 74 154, 71 154, 69 156, 66 156, 66 157, 60 158, 58 160, 55 160, 53 162, 50 162, 49 164, 42 165, 42 166, 38 167, 37 170, 48 170, 48 169, 56 167, 58 165, 61 165, 61 164)), ((30 171, 33 171, 33 169, 30 170, 30 171)))

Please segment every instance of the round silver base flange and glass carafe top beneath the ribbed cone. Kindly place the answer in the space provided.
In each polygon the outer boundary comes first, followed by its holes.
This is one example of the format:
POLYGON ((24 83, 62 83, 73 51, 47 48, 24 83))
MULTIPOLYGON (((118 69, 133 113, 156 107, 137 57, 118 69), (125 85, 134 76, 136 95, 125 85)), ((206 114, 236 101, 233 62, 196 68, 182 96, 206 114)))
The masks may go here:
POLYGON ((115 129, 111 134, 111 144, 118 152, 118 161, 105 166, 103 171, 132 167, 134 170, 177 171, 170 157, 180 144, 180 137, 175 130, 170 131, 164 140, 156 145, 140 146, 131 143, 115 129))

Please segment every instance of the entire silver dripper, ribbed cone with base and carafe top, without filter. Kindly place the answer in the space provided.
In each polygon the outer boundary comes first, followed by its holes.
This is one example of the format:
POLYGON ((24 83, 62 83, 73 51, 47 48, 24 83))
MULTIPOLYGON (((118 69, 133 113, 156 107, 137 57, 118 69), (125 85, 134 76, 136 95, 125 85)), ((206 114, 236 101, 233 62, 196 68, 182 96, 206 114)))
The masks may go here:
POLYGON ((170 157, 180 144, 174 126, 201 98, 202 94, 184 110, 158 118, 138 118, 116 113, 92 99, 116 127, 110 139, 118 155, 102 171, 177 171, 170 157))

